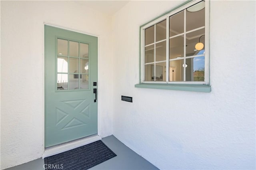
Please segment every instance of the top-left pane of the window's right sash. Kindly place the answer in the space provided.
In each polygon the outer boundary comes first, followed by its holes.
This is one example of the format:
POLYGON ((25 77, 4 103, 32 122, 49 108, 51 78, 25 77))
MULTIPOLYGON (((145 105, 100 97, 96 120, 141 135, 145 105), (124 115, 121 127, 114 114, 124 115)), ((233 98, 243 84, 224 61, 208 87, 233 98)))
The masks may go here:
POLYGON ((170 37, 184 33, 184 11, 170 16, 169 19, 170 37))

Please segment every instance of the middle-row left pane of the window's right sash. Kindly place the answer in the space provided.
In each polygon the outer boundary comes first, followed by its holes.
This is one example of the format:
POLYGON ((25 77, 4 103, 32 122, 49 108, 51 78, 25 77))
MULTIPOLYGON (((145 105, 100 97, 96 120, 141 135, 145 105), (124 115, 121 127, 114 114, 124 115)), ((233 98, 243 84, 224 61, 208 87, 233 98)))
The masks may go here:
POLYGON ((184 36, 178 36, 170 39, 170 59, 184 57, 184 36))

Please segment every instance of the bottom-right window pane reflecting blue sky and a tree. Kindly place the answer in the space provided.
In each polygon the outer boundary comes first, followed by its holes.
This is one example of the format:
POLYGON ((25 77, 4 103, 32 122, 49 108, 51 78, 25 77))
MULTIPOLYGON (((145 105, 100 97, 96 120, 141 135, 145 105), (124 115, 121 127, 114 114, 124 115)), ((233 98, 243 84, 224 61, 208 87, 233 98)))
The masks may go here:
POLYGON ((186 59, 186 81, 204 81, 204 56, 186 59))

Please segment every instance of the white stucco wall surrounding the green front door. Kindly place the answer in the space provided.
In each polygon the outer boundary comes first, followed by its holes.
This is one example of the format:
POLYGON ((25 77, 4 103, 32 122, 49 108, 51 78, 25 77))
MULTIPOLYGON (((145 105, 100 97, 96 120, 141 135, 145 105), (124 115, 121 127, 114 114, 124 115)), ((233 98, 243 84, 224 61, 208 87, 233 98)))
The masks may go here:
POLYGON ((99 134, 112 134, 110 20, 71 1, 1 1, 1 169, 44 151, 44 22, 99 36, 99 134))

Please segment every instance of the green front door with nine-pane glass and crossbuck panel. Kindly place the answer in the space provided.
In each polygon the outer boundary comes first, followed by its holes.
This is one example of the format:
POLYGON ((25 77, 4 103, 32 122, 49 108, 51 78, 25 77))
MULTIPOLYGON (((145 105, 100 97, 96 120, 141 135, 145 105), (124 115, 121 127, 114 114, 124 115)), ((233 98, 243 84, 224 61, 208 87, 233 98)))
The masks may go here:
POLYGON ((44 26, 45 147, 97 134, 98 38, 44 26))

